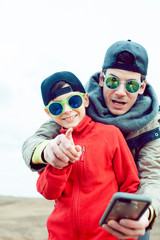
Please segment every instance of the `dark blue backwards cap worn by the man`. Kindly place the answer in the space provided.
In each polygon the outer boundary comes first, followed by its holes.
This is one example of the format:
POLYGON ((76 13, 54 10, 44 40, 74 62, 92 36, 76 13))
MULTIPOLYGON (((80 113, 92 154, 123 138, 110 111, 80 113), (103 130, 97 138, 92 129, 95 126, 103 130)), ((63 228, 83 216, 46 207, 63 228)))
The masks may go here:
POLYGON ((138 72, 146 76, 148 69, 147 51, 143 46, 136 42, 132 42, 131 40, 115 42, 108 48, 105 54, 102 69, 107 68, 118 68, 138 72), (125 51, 132 54, 134 58, 132 64, 124 64, 117 60, 118 54, 125 51))

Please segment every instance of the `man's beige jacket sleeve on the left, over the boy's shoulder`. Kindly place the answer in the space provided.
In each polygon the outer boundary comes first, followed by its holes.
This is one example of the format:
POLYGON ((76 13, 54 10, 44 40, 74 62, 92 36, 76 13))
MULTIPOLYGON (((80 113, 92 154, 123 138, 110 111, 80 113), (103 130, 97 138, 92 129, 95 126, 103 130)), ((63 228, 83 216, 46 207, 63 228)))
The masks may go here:
POLYGON ((26 165, 32 171, 41 171, 45 164, 32 164, 32 155, 36 147, 45 140, 55 138, 60 133, 60 126, 53 119, 45 122, 31 137, 27 138, 22 146, 22 156, 26 165))

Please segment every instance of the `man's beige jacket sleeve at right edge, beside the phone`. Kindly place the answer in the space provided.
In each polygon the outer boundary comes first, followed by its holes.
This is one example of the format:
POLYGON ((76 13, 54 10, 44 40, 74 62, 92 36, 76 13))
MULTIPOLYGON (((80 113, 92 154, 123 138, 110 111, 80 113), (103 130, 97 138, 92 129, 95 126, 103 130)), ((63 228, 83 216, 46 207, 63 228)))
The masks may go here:
POLYGON ((145 144, 137 153, 137 168, 141 183, 138 194, 152 198, 156 216, 160 215, 160 139, 145 144))

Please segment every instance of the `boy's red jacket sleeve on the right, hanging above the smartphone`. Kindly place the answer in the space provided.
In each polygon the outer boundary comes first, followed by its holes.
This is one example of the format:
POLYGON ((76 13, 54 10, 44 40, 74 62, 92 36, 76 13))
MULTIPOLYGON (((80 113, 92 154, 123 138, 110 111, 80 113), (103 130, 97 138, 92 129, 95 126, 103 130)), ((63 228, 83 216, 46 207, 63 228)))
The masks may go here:
POLYGON ((140 180, 133 156, 119 129, 117 129, 117 148, 113 158, 113 168, 119 185, 119 191, 135 193, 140 180))

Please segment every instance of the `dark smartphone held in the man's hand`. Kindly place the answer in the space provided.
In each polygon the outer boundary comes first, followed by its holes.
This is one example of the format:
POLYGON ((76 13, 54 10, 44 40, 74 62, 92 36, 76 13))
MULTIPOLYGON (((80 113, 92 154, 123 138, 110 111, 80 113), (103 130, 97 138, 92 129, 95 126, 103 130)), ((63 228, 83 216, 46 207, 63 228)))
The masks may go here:
POLYGON ((102 226, 109 220, 119 221, 122 218, 138 220, 151 202, 148 196, 117 192, 113 195, 99 224, 102 226))

